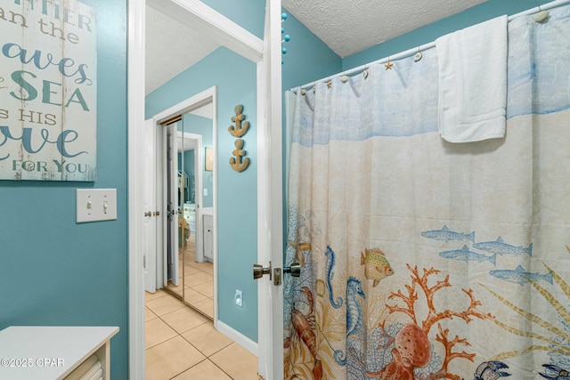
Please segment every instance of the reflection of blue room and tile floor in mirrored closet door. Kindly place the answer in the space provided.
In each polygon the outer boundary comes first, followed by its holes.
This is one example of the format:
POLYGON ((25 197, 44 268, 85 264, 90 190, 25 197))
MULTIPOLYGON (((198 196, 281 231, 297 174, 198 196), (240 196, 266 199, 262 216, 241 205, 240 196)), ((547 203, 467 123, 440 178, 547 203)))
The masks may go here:
MULTIPOLYGON (((177 221, 176 255, 169 255, 178 264, 177 271, 168 271, 167 289, 192 309, 212 319, 200 310, 199 303, 213 295, 212 209, 214 195, 213 166, 207 169, 207 150, 214 145, 213 100, 201 101, 178 117, 173 125, 176 139, 175 162, 172 167, 177 221), (173 278, 172 276, 177 276, 173 278), (176 280, 177 279, 177 280, 176 280), (177 282, 177 283, 176 283, 177 282), (208 287, 208 288, 207 288, 208 287)), ((211 159, 211 158, 210 158, 211 159)), ((173 191, 174 190, 174 191, 173 191)), ((171 246, 171 244, 168 244, 171 246)), ((168 267, 171 267, 168 260, 168 267)))

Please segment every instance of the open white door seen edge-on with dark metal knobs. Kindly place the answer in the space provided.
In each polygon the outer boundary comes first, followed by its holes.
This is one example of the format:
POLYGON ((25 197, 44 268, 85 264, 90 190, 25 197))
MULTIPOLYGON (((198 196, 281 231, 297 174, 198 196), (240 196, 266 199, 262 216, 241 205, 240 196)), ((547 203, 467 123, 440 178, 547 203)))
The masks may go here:
MULTIPOLYGON (((272 271, 283 263, 281 156, 281 1, 267 0, 264 56, 258 64, 257 108, 264 121, 257 137, 257 242, 258 263, 272 271)), ((275 276, 272 276, 275 279, 275 276)), ((259 374, 283 378, 283 287, 268 276, 258 284, 259 374)))

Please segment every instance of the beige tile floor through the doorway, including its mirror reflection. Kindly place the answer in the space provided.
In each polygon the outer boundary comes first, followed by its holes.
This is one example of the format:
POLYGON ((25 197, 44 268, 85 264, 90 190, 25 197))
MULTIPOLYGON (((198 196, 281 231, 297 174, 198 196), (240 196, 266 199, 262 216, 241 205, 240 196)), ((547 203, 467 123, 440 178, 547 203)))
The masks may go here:
MULTIPOLYGON (((187 250, 188 251, 188 250, 187 250)), ((211 263, 185 252, 184 295, 212 315, 211 263), (208 265, 209 264, 209 265, 208 265), (209 276, 207 276, 209 275, 209 276)), ((182 290, 182 282, 175 291, 182 290), (177 290, 176 290, 177 289, 177 290)), ((257 358, 164 290, 145 294, 146 380, 257 380, 257 358)))

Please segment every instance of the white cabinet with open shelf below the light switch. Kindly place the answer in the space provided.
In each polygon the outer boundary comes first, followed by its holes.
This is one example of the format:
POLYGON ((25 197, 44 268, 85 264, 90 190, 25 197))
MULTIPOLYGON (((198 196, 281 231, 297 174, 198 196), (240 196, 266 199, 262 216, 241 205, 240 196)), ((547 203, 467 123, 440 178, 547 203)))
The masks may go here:
POLYGON ((110 380, 118 327, 12 326, 0 331, 0 379, 110 380))

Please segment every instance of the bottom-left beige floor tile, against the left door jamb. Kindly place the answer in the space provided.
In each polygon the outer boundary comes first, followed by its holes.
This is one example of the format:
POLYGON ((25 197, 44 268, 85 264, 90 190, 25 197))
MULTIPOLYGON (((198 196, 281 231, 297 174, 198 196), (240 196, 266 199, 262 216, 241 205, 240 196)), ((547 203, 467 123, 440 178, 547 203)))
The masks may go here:
POLYGON ((205 359, 182 336, 175 336, 146 351, 146 378, 171 379, 205 359))

